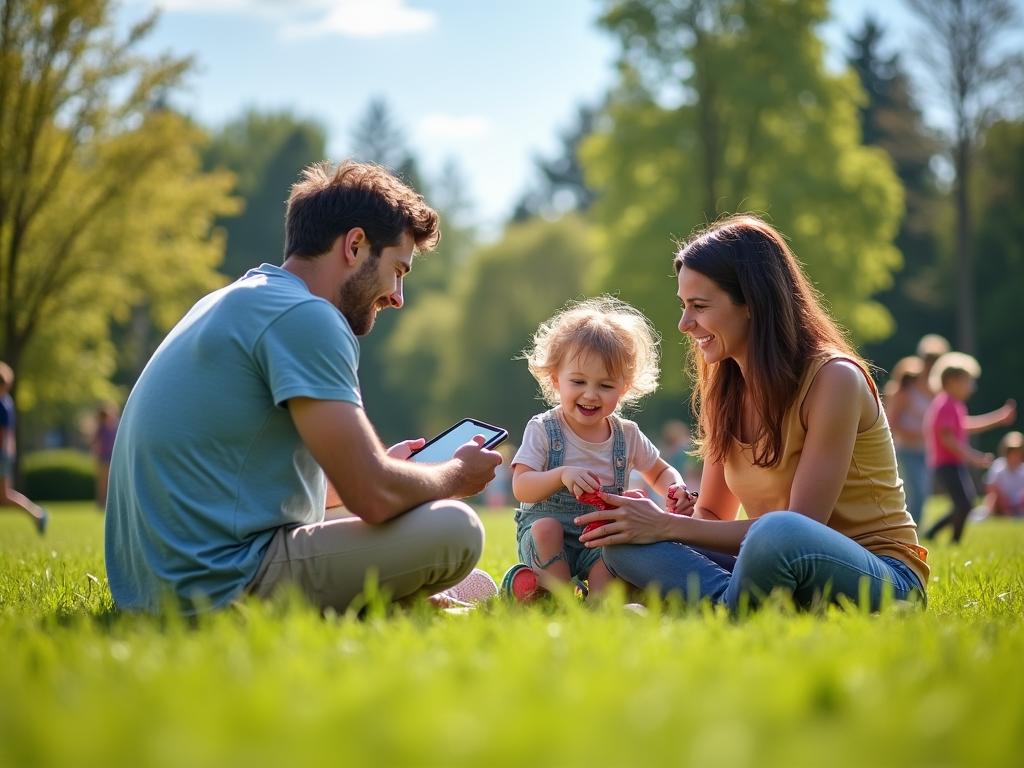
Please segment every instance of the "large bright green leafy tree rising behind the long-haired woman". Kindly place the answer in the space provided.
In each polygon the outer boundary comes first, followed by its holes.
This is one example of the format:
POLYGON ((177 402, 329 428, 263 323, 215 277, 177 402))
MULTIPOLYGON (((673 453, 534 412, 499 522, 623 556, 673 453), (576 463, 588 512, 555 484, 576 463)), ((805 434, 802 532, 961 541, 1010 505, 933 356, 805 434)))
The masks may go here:
MULTIPOLYGON (((622 44, 606 128, 582 148, 599 197, 600 285, 644 310, 681 369, 672 237, 725 212, 766 215, 857 342, 891 333, 876 292, 900 265, 891 161, 860 142, 852 72, 829 74, 825 0, 624 0, 601 24, 622 44)), ((679 395, 680 377, 665 388, 679 395)))

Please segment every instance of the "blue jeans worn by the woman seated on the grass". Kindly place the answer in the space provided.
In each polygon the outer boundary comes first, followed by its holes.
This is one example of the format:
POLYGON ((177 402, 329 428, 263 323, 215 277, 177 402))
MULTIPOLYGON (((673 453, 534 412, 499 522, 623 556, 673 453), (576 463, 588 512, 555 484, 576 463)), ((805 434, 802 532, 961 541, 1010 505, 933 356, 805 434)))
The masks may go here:
POLYGON ((687 601, 710 597, 736 612, 745 596, 758 605, 781 588, 802 607, 854 602, 867 590, 871 610, 887 589, 898 600, 925 600, 918 577, 894 557, 868 552, 848 537, 796 512, 772 512, 746 532, 739 555, 723 555, 676 542, 604 548, 604 562, 615 577, 662 595, 680 592, 687 601), (890 585, 887 587, 886 585, 890 585))

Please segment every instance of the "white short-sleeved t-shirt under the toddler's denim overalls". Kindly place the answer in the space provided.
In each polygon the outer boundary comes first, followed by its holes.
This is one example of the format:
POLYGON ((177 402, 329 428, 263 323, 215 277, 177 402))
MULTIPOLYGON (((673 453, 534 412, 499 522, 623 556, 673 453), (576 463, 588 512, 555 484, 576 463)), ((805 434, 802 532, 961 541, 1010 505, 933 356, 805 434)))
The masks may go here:
MULTIPOLYGON (((516 452, 515 458, 512 459, 511 466, 514 468, 516 464, 522 464, 538 472, 547 469, 549 445, 548 430, 544 427, 544 419, 552 411, 558 419, 564 436, 562 466, 589 469, 600 478, 601 485, 613 485, 615 483, 615 467, 612 460, 614 430, 603 442, 588 442, 565 423, 561 406, 539 414, 529 420, 522 435, 522 444, 516 452)), ((659 454, 654 443, 640 431, 636 422, 622 418, 618 418, 618 422, 623 425, 623 436, 626 438, 625 477, 628 482, 632 470, 646 472, 654 466, 659 454)))

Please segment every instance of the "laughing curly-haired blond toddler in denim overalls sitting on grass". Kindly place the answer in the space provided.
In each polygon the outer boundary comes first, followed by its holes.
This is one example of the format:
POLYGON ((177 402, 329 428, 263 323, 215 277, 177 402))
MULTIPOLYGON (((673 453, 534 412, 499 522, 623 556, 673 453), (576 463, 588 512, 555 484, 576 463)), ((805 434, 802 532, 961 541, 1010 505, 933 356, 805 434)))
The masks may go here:
POLYGON ((637 425, 618 415, 657 387, 656 334, 639 311, 604 296, 570 303, 542 324, 524 357, 554 408, 529 420, 512 460, 525 565, 506 574, 506 590, 529 599, 574 579, 601 592, 612 577, 601 550, 580 542, 584 529, 573 518, 593 511, 587 503, 602 504, 598 490, 622 494, 634 469, 669 500, 670 511, 685 487, 637 425), (531 585, 512 589, 515 577, 530 572, 531 585))

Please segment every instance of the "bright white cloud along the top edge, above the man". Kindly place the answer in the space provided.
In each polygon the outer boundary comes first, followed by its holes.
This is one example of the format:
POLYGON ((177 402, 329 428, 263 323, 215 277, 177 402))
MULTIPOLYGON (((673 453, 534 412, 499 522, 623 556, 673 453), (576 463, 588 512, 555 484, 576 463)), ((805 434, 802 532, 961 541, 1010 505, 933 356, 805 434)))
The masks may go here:
POLYGON ((136 0, 167 12, 238 13, 271 18, 289 38, 385 37, 423 32, 436 16, 408 0, 136 0))

